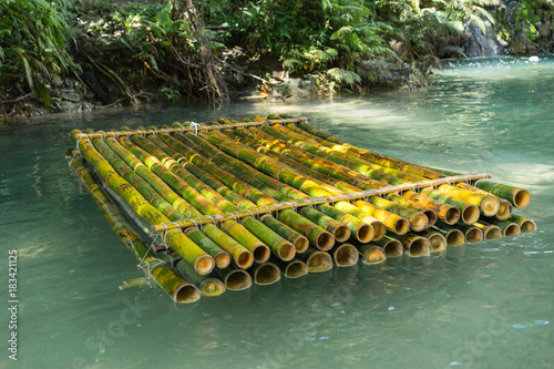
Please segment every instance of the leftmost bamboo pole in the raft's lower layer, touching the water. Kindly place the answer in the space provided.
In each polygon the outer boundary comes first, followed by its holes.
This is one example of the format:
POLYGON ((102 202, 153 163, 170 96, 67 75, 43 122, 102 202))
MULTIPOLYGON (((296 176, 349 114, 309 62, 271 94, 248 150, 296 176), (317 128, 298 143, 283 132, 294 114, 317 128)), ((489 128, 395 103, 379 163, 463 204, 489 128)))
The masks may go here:
POLYGON ((83 165, 82 161, 72 154, 65 157, 70 167, 79 176, 85 188, 96 202, 102 214, 120 239, 135 255, 147 265, 146 268, 164 291, 176 303, 193 303, 198 299, 198 289, 188 280, 173 273, 165 263, 160 260, 148 247, 132 230, 124 215, 102 192, 93 174, 83 165))

